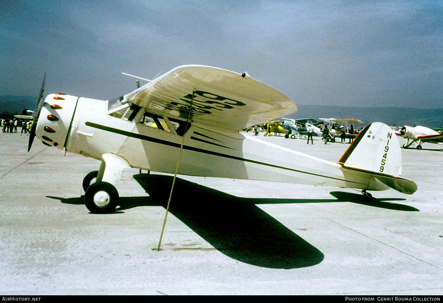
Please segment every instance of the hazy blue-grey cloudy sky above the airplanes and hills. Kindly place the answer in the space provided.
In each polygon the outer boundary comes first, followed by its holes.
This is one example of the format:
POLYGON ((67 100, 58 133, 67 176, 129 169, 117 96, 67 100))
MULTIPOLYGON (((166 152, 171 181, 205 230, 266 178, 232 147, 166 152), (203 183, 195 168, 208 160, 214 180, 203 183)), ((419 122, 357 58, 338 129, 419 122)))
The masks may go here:
POLYGON ((176 66, 295 104, 443 108, 441 0, 0 0, 0 95, 107 100, 176 66))

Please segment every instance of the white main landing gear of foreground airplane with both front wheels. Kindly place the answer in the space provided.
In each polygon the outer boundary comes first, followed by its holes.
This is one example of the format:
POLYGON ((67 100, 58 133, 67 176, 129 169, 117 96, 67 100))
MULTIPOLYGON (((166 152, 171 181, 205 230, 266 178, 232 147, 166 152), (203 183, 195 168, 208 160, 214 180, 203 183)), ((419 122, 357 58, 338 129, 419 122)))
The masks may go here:
POLYGON ((107 214, 115 210, 118 205, 119 195, 116 189, 117 181, 122 176, 125 167, 131 167, 123 157, 106 153, 101 155, 100 170, 90 172, 83 180, 83 187, 88 185, 95 177, 95 183, 90 184, 85 189, 85 206, 91 213, 107 214))

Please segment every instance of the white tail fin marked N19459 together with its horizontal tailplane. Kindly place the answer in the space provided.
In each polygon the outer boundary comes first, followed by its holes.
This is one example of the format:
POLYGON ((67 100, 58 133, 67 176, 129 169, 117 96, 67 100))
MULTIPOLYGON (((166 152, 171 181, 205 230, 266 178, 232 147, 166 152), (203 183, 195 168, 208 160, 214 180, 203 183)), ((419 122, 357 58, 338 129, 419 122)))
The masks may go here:
POLYGON ((401 149, 392 129, 376 122, 366 126, 338 161, 342 167, 363 171, 405 194, 417 190, 416 184, 401 175, 401 149))

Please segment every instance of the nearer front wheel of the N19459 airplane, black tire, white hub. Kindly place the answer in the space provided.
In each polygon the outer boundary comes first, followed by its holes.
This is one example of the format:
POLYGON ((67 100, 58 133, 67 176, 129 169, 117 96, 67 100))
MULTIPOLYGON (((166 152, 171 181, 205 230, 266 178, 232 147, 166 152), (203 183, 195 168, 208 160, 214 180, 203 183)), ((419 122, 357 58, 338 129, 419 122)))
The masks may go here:
POLYGON ((85 191, 86 208, 94 214, 109 214, 117 207, 117 189, 108 182, 92 183, 85 191))

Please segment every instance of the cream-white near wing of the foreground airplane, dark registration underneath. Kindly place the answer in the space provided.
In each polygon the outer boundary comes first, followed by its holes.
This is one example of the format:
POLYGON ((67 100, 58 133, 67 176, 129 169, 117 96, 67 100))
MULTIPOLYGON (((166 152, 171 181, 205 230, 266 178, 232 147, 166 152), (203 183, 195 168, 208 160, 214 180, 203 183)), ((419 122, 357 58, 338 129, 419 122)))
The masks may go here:
POLYGON ((229 70, 179 66, 124 96, 148 111, 239 130, 297 110, 278 90, 229 70), (193 97, 194 92, 194 97, 193 97))

